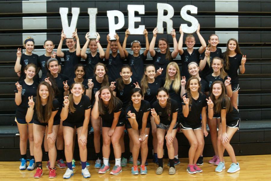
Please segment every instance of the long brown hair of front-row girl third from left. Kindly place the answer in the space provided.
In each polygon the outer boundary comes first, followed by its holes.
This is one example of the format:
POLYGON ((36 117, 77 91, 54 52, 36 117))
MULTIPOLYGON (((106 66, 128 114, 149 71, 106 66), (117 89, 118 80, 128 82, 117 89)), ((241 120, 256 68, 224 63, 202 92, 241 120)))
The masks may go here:
MULTIPOLYGON (((113 95, 113 92, 112 90, 110 89, 109 86, 104 86, 104 87, 101 87, 100 89, 100 94, 99 94, 99 97, 101 96, 101 91, 104 90, 104 89, 108 89, 110 94, 111 94, 111 98, 109 100, 109 104, 108 104, 108 113, 111 114, 113 113, 114 109, 117 107, 117 104, 120 103, 120 99, 115 97, 113 95)), ((104 106, 104 101, 102 99, 99 99, 98 101, 98 109, 99 109, 99 113, 101 115, 104 115, 105 114, 105 106, 104 106)))

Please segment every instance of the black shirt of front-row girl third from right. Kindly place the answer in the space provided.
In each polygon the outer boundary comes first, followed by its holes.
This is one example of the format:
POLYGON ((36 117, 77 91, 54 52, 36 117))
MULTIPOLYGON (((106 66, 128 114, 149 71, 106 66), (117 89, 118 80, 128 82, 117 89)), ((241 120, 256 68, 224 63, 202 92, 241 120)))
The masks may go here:
POLYGON ((178 110, 179 110, 178 103, 176 100, 170 99, 170 103, 171 103, 170 115, 167 114, 166 107, 162 108, 160 106, 158 100, 155 101, 152 105, 152 108, 154 108, 157 115, 159 115, 160 123, 162 123, 164 125, 170 125, 170 123, 172 121, 172 114, 178 112, 178 110), (170 121, 168 120, 169 116, 170 116, 170 121))

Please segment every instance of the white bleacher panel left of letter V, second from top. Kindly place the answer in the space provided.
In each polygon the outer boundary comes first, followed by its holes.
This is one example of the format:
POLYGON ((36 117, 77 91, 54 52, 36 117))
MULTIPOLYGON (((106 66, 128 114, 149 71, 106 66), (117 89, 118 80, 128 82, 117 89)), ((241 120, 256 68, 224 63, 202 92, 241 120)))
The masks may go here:
POLYGON ((47 29, 47 17, 23 17, 23 30, 47 29))

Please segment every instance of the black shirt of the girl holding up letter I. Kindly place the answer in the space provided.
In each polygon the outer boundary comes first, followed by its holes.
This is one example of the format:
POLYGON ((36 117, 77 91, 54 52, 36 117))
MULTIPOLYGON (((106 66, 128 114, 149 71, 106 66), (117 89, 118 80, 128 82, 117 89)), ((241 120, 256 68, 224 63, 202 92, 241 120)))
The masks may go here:
POLYGON ((86 53, 87 58, 85 61, 86 64, 86 77, 92 77, 94 76, 94 67, 97 63, 103 63, 103 59, 100 58, 100 53, 97 52, 97 54, 93 57, 91 53, 86 53))

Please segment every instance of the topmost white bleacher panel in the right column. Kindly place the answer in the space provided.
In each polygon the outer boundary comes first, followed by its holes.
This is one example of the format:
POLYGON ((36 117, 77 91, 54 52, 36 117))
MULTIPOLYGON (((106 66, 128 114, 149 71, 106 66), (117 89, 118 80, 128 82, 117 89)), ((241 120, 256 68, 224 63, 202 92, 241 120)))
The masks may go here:
POLYGON ((215 0, 216 12, 238 12, 238 0, 215 0))

